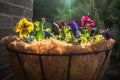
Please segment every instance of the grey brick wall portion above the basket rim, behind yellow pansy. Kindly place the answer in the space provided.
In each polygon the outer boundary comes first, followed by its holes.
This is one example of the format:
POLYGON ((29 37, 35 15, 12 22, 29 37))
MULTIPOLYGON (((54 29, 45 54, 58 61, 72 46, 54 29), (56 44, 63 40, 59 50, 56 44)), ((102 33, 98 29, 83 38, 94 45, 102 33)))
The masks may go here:
POLYGON ((13 28, 22 17, 32 20, 33 0, 0 0, 0 39, 15 34, 13 28))

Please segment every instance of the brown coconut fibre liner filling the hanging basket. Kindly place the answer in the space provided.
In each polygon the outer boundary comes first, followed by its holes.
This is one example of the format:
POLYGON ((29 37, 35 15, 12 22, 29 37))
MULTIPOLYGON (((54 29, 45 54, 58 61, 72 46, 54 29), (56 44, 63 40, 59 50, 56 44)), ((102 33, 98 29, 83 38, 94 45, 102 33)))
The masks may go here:
POLYGON ((70 56, 39 56, 38 54, 86 54, 104 50, 114 44, 113 39, 103 39, 96 43, 82 45, 53 39, 26 43, 17 36, 7 36, 4 41, 8 49, 10 65, 17 80, 101 80, 104 70, 108 66, 111 50, 108 52, 108 56, 106 56, 106 51, 98 54, 72 56, 70 71, 68 71, 70 56), (21 63, 19 63, 18 57, 21 63), (20 66, 21 64, 23 67, 20 66), (42 64, 42 68, 40 64, 42 64))

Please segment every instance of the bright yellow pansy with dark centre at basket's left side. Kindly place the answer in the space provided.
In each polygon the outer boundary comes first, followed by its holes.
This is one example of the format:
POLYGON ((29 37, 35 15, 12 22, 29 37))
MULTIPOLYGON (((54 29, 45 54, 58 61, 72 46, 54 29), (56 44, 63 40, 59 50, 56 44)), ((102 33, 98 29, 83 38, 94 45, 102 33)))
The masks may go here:
POLYGON ((15 27, 15 32, 19 32, 19 36, 24 35, 29 36, 29 33, 33 31, 34 25, 32 22, 28 21, 26 18, 22 18, 15 27))

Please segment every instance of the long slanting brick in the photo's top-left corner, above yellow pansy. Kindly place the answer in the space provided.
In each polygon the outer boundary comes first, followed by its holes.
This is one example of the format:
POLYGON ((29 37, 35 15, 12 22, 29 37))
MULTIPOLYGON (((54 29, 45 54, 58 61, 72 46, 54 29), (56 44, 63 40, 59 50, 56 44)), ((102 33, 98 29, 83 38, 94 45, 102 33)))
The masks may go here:
MULTIPOLYGON (((18 1, 18 0, 17 0, 18 1)), ((6 13, 14 16, 21 16, 24 14, 24 9, 0 2, 0 13, 6 13)))

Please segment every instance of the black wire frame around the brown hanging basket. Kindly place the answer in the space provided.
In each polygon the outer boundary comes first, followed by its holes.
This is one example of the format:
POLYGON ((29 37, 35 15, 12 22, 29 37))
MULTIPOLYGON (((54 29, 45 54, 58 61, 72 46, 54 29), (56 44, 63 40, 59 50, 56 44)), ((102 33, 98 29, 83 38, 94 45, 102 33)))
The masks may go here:
MULTIPOLYGON (((22 52, 18 52, 18 51, 15 51, 15 50, 10 50, 9 48, 7 48, 10 52, 14 52, 15 53, 15 55, 16 55, 16 57, 17 57, 17 59, 18 59, 18 62, 19 62, 19 64, 20 64, 20 67, 21 67, 21 69, 22 69, 22 72, 24 73, 24 75, 25 75, 25 78, 26 78, 26 80, 30 80, 29 78, 28 78, 28 75, 29 74, 27 74, 27 72, 26 72, 26 70, 25 70, 25 68, 24 68, 24 66, 23 66, 23 63, 22 63, 22 60, 21 60, 21 58, 20 58, 20 55, 32 55, 32 56, 37 56, 38 58, 39 58, 39 68, 41 69, 41 73, 42 73, 42 80, 46 80, 46 75, 45 75, 45 70, 44 70, 44 68, 43 68, 43 60, 42 60, 42 56, 66 56, 66 57, 68 57, 68 65, 67 65, 67 80, 71 80, 70 79, 70 70, 71 70, 71 58, 73 57, 73 56, 81 56, 81 55, 96 55, 96 54, 99 54, 99 53, 101 53, 101 52, 104 52, 105 53, 105 58, 104 58, 104 60, 103 60, 103 62, 102 62, 102 65, 100 66, 100 69, 99 69, 99 71, 98 71, 98 74, 100 73, 100 71, 101 71, 101 69, 104 67, 104 65, 105 65, 105 62, 106 62, 106 59, 107 59, 107 57, 108 57, 108 55, 109 55, 109 52, 110 52, 110 50, 112 49, 112 47, 110 47, 110 48, 106 48, 106 49, 104 49, 104 50, 98 50, 98 51, 93 51, 93 52, 82 52, 82 53, 77 53, 77 54, 74 54, 74 53, 69 53, 69 54, 34 54, 34 53, 29 53, 29 54, 26 54, 26 53, 22 53, 22 52)), ((99 75, 97 75, 97 77, 98 77, 99 75)))

